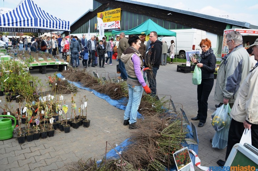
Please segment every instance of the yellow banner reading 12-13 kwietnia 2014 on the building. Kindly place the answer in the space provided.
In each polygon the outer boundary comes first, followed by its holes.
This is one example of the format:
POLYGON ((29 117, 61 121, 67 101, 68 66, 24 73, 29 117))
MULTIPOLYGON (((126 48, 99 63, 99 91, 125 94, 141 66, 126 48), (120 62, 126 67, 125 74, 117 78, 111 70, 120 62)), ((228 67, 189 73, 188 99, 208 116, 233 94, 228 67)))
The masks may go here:
POLYGON ((103 22, 120 21, 121 20, 121 8, 112 9, 109 11, 98 12, 98 18, 101 18, 103 22))

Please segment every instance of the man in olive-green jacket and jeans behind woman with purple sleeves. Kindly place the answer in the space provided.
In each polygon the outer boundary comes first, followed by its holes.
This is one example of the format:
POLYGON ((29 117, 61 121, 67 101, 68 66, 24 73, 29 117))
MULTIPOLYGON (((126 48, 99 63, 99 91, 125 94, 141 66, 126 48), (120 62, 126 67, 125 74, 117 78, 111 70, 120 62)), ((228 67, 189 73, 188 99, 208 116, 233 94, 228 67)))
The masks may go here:
POLYGON ((120 36, 120 41, 117 49, 117 59, 119 62, 119 69, 121 71, 121 79, 127 80, 128 75, 126 73, 124 63, 121 61, 121 55, 125 51, 125 49, 129 47, 129 44, 128 44, 127 38, 125 37, 124 32, 121 32, 119 36, 120 36))

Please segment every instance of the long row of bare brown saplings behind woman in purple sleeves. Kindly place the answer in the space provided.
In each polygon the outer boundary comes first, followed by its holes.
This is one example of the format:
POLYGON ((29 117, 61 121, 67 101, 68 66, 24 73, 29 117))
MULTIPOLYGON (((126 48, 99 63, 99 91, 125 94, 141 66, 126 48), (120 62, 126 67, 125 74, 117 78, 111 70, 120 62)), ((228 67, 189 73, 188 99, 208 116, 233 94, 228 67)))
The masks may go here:
POLYGON ((128 86, 124 81, 112 82, 104 81, 94 77, 87 70, 69 70, 63 71, 65 79, 75 82, 81 82, 81 85, 108 95, 111 99, 120 99, 128 96, 128 86))

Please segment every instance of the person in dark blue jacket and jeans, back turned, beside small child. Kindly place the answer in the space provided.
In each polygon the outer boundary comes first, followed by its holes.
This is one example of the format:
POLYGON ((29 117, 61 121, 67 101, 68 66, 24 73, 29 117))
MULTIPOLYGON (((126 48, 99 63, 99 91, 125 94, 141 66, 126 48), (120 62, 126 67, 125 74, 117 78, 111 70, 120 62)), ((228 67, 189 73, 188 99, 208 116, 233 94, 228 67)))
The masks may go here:
POLYGON ((78 52, 80 50, 80 44, 78 41, 75 40, 74 36, 71 35, 70 37, 71 39, 71 61, 70 61, 70 65, 74 67, 74 60, 76 62, 76 67, 79 66, 79 57, 78 57, 78 52))

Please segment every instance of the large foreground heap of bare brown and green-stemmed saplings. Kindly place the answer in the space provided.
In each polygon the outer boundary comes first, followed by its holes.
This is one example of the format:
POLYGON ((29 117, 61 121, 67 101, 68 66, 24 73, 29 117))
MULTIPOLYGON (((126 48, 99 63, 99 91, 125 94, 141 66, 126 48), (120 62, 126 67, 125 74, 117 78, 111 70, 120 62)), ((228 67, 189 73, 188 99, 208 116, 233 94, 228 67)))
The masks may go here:
POLYGON ((130 142, 122 158, 131 163, 134 169, 156 168, 174 165, 173 153, 181 149, 186 132, 181 120, 176 116, 144 116, 137 121, 139 129, 132 133, 130 142), (168 160, 168 156, 169 160, 168 160))

